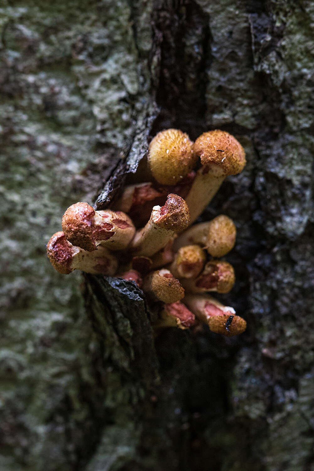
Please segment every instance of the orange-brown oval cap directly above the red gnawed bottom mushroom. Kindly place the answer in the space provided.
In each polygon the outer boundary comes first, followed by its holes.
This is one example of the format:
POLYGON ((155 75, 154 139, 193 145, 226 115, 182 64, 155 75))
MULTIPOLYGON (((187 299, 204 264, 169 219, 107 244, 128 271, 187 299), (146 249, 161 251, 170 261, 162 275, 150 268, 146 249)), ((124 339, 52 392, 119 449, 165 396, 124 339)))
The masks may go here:
POLYGON ((184 297, 183 287, 169 270, 155 271, 152 274, 151 286, 154 295, 167 304, 179 301, 184 297))

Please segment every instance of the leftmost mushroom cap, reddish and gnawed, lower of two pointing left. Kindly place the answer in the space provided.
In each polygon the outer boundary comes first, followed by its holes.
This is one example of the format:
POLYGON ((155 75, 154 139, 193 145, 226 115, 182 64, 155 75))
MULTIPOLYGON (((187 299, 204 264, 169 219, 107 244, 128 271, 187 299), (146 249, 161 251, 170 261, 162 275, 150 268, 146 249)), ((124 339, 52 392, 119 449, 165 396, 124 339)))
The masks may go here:
POLYGON ((68 275, 73 271, 71 268, 73 255, 77 253, 79 249, 73 247, 68 242, 62 231, 56 232, 52 235, 47 244, 47 255, 53 268, 63 275, 68 275))

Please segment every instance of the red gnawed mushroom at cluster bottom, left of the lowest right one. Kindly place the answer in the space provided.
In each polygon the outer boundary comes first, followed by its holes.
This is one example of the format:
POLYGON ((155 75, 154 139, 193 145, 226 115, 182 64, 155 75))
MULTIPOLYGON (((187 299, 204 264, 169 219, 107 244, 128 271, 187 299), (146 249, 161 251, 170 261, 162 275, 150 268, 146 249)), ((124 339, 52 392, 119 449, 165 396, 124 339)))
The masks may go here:
POLYGON ((195 316, 180 301, 171 304, 164 304, 160 314, 160 319, 154 323, 154 329, 164 329, 166 327, 178 327, 188 329, 195 323, 195 316))

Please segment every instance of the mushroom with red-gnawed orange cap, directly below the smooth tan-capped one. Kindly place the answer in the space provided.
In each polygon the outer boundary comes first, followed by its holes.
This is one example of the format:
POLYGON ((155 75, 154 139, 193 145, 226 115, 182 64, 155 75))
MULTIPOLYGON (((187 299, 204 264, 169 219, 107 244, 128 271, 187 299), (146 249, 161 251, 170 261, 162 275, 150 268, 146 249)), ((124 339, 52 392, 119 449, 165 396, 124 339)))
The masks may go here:
POLYGON ((227 293, 234 284, 234 270, 228 262, 211 260, 206 263, 204 270, 198 278, 181 280, 185 292, 202 293, 216 291, 227 293))

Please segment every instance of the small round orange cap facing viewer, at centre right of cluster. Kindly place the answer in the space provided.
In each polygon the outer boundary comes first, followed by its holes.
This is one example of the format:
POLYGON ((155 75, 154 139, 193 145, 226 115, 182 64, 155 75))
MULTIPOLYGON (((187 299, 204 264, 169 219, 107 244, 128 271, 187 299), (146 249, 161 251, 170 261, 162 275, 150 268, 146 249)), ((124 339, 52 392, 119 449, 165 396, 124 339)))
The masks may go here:
POLYGON ((176 278, 194 278, 200 274, 205 260, 205 252, 199 245, 185 245, 177 251, 169 269, 176 278))

